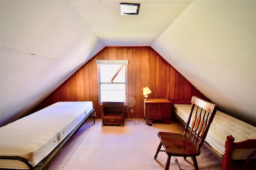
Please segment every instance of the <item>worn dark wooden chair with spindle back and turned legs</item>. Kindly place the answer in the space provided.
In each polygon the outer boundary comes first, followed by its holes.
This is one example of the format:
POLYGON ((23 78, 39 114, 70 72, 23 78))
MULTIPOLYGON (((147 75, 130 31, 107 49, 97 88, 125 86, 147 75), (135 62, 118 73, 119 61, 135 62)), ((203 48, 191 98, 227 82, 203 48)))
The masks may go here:
POLYGON ((200 154, 200 149, 217 108, 215 104, 206 102, 196 96, 192 97, 191 103, 190 115, 183 135, 170 132, 158 132, 157 134, 160 138, 160 144, 154 158, 157 158, 159 151, 166 152, 168 157, 165 170, 169 169, 171 156, 174 157, 174 161, 178 164, 179 168, 180 165, 175 156, 182 156, 184 160, 186 160, 186 157, 190 157, 193 160, 195 169, 198 170, 196 156, 200 154), (194 115, 193 118, 192 115, 194 115), (192 123, 190 125, 191 119, 192 123), (162 146, 164 146, 164 150, 160 150, 162 146))

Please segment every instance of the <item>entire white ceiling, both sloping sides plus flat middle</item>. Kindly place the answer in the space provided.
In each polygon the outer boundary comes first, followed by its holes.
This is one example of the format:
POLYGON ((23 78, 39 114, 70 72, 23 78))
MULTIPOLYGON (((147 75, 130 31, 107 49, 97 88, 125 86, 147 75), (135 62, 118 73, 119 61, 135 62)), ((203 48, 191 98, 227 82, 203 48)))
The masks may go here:
POLYGON ((256 125, 256 1, 0 1, 1 126, 105 46, 151 46, 219 109, 256 125))

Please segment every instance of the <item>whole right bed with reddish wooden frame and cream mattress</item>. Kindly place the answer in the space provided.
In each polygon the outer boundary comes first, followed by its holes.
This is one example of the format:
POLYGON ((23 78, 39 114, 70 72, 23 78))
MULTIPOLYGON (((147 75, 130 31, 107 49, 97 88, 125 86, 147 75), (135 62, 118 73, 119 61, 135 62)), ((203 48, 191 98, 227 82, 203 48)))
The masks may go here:
MULTIPOLYGON (((185 125, 190 113, 189 100, 172 101, 172 110, 185 125)), ((232 160, 246 160, 256 154, 256 127, 217 111, 204 145, 221 161, 222 170, 232 169, 232 160)))

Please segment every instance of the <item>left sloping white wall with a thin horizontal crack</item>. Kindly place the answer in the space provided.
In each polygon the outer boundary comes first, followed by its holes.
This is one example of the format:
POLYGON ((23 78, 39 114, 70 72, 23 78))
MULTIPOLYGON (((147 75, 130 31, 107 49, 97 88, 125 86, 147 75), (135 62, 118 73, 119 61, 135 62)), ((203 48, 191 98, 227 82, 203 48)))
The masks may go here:
POLYGON ((1 1, 1 125, 64 82, 104 45, 72 1, 1 1))

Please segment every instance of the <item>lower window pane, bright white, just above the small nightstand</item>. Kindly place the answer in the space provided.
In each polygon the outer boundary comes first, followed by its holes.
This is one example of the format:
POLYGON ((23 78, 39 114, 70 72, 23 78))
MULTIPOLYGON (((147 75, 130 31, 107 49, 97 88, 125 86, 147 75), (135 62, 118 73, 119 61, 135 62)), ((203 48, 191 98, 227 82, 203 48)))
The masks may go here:
POLYGON ((125 83, 100 84, 100 102, 125 102, 125 83))

